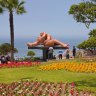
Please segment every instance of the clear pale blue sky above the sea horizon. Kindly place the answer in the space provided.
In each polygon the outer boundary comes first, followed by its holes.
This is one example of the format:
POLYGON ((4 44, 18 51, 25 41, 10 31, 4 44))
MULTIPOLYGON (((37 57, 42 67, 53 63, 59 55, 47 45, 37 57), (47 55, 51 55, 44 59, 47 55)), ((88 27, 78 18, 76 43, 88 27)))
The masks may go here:
MULTIPOLYGON (((79 2, 81 0, 26 0, 27 13, 14 13, 15 39, 35 39, 42 31, 54 38, 88 38, 88 33, 95 28, 95 24, 91 24, 87 29, 84 24, 77 23, 72 15, 68 14, 70 6, 79 2)), ((0 38, 10 38, 7 11, 0 14, 0 38)))

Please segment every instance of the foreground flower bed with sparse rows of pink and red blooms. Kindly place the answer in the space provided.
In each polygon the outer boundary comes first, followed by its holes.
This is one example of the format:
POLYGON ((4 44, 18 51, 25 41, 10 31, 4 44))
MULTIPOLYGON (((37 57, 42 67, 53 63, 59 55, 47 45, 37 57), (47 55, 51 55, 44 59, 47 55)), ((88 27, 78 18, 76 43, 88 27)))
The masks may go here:
POLYGON ((93 96, 88 91, 78 91, 74 82, 52 83, 20 81, 0 84, 0 96, 93 96))

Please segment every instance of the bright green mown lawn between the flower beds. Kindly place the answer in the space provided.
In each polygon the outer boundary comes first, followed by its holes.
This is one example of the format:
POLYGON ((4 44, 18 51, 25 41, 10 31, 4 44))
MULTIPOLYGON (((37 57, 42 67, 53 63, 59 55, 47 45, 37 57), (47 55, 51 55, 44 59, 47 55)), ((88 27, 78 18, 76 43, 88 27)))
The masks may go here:
POLYGON ((86 88, 94 92, 96 91, 96 73, 75 73, 65 70, 43 71, 39 70, 38 66, 0 69, 1 83, 11 83, 25 79, 50 82, 75 82, 80 89, 86 88))

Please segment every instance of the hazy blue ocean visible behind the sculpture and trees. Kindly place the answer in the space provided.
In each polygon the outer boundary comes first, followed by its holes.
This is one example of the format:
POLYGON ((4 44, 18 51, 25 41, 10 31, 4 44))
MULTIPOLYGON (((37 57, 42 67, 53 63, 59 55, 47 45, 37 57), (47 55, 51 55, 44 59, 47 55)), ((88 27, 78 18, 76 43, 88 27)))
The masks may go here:
MULTIPOLYGON (((70 45, 70 50, 72 50, 73 46, 77 46, 79 43, 81 43, 82 41, 84 41, 84 38, 57 38, 59 41, 62 41, 64 43, 67 43, 70 45)), ((28 49, 28 47, 26 46, 27 42, 34 42, 34 38, 19 38, 19 39, 15 39, 15 48, 17 48, 18 53, 15 53, 16 57, 19 58, 23 58, 27 56, 27 52, 28 51, 34 51, 35 52, 35 56, 36 57, 41 57, 42 56, 42 50, 38 50, 38 49, 28 49)), ((9 43, 10 39, 2 39, 0 38, 0 44, 2 43, 9 43)), ((65 50, 63 50, 65 51, 65 50)), ((58 50, 54 50, 54 55, 58 54, 58 50)))

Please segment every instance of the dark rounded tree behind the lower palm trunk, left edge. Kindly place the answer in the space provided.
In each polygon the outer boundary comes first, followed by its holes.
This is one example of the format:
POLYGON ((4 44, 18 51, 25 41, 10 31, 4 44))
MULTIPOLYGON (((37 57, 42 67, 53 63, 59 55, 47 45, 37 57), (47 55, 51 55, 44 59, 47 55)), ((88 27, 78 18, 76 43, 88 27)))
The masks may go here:
MULTIPOLYGON (((3 43, 0 45, 0 54, 2 55, 7 55, 8 53, 11 52, 11 45, 9 43, 3 43)), ((17 53, 18 50, 14 48, 14 53, 17 53)))

